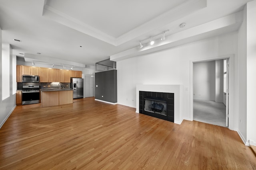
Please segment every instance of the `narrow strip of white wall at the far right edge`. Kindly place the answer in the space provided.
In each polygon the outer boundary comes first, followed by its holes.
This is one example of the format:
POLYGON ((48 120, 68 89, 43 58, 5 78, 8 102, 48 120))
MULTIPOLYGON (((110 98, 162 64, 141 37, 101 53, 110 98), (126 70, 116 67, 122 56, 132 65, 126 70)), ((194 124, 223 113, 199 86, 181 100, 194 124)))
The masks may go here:
POLYGON ((247 4, 247 141, 256 146, 256 0, 247 4))

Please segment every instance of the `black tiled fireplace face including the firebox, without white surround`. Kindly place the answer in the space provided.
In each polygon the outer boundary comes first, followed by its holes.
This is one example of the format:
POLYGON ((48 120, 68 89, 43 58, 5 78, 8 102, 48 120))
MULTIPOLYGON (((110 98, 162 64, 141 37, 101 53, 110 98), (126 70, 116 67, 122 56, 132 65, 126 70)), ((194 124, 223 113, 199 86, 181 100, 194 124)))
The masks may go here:
POLYGON ((139 91, 139 113, 174 122, 174 93, 139 91))

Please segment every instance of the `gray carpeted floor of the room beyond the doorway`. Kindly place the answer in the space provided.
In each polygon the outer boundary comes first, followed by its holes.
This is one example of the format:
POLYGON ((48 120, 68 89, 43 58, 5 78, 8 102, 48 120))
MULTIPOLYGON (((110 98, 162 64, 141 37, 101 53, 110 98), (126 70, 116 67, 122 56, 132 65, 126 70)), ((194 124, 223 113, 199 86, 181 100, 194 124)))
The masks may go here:
POLYGON ((210 100, 194 99, 194 120, 226 127, 226 106, 210 100))

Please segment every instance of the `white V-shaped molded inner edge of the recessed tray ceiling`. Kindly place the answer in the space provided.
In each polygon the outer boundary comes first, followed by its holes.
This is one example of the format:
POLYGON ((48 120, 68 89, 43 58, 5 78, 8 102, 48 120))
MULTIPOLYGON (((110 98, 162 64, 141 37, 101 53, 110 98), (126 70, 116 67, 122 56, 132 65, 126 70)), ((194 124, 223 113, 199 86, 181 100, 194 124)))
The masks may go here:
POLYGON ((183 4, 176 6, 175 8, 170 9, 169 11, 153 18, 152 20, 142 23, 140 26, 124 33, 119 37, 113 37, 99 29, 92 27, 76 18, 73 18, 63 12, 60 12, 51 6, 44 3, 44 10, 42 12, 42 16, 56 21, 62 25, 90 35, 96 39, 100 39, 106 43, 109 43, 114 46, 121 45, 132 39, 136 39, 137 37, 143 36, 150 31, 154 31, 160 27, 164 27, 168 23, 178 20, 184 16, 192 14, 197 10, 205 8, 207 6, 207 0, 188 0, 183 4))

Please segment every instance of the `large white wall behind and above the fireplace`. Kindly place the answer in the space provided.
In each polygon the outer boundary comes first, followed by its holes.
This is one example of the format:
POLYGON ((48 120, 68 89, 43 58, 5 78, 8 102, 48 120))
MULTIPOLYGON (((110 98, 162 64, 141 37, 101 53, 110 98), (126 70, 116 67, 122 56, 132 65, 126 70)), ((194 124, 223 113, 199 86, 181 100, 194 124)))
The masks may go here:
MULTIPOLYGON (((191 120, 190 61, 235 54, 237 63, 236 49, 237 32, 232 32, 118 61, 118 104, 136 107, 136 84, 181 84, 185 89, 188 88, 188 91, 184 91, 184 100, 181 102, 184 108, 182 119, 191 120)), ((238 83, 236 76, 237 74, 234 76, 235 83, 238 83)), ((238 100, 235 104, 238 104, 238 100)))

